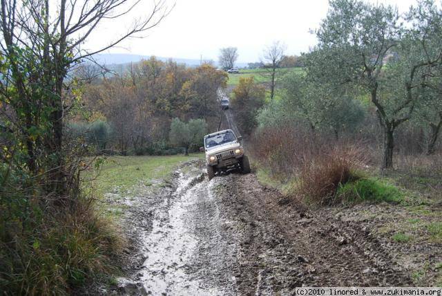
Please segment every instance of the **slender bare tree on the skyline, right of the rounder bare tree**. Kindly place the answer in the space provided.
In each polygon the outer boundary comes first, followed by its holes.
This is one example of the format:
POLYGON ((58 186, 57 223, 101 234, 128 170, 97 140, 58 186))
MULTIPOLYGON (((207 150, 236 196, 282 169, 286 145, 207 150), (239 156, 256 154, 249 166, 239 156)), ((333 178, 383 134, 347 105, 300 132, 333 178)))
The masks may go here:
POLYGON ((264 64, 266 71, 263 72, 263 75, 270 77, 271 100, 273 100, 275 95, 276 76, 278 74, 276 69, 280 68, 280 64, 285 57, 285 49, 285 44, 282 44, 280 41, 275 41, 271 46, 267 46, 264 50, 262 64, 264 64))

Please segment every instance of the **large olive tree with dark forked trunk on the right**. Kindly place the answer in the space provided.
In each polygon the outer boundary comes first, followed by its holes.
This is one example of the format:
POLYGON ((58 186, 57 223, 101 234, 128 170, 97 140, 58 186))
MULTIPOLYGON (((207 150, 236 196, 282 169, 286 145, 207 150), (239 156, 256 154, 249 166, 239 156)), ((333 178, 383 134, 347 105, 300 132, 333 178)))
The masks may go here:
POLYGON ((419 2, 401 19, 392 6, 333 0, 316 31, 319 42, 307 56, 307 72, 369 95, 383 129, 383 168, 393 165, 394 131, 410 120, 424 73, 441 60, 440 26, 432 1, 419 2), (437 47, 430 51, 430 44, 437 47))

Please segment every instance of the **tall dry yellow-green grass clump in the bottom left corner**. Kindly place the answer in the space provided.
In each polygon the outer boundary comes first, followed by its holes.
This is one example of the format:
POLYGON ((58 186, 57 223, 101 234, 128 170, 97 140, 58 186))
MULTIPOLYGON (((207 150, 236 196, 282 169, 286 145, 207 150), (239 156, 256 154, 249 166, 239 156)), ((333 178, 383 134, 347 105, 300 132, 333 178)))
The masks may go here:
POLYGON ((19 221, 9 221, 7 229, 1 225, 0 290, 5 295, 68 295, 117 271, 124 239, 92 199, 44 211, 33 207, 30 214, 32 225, 26 228, 19 221))

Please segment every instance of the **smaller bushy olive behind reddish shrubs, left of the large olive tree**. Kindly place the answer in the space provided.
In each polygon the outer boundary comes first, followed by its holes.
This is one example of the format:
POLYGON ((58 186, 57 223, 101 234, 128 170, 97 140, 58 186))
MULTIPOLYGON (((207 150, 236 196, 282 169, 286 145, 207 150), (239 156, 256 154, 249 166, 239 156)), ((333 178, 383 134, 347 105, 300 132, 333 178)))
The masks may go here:
POLYGON ((312 136, 317 132, 331 132, 339 138, 342 131, 360 124, 365 115, 351 90, 316 84, 298 73, 282 77, 281 89, 281 99, 260 112, 260 125, 278 127, 303 122, 312 136))

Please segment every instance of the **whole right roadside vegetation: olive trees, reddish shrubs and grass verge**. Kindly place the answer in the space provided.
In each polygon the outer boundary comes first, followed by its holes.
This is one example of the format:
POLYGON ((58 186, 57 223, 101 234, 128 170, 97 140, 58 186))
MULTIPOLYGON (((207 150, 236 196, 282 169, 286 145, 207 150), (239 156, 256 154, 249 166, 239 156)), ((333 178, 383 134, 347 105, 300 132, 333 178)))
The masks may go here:
POLYGON ((404 15, 330 1, 303 75, 282 75, 249 128, 261 183, 287 205, 363 225, 405 268, 412 261, 416 286, 442 283, 440 257, 409 255, 442 243, 441 32, 433 1, 404 15))

